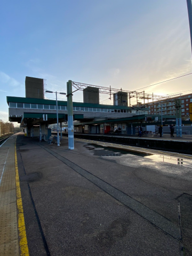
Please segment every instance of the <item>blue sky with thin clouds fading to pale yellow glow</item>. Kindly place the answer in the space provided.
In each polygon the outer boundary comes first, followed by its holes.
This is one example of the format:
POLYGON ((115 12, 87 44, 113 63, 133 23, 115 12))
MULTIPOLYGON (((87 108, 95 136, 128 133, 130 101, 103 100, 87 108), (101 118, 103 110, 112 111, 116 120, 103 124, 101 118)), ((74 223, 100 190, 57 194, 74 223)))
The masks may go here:
MULTIPOLYGON (((58 92, 66 92, 68 80, 143 91, 192 73, 186 0, 2 0, 0 38, 4 122, 6 96, 25 97, 26 76, 47 79, 47 90, 58 92)), ((190 93, 191 80, 188 75, 145 92, 190 93)), ((73 99, 83 101, 83 92, 73 99)), ((101 101, 113 103, 107 94, 101 101)))

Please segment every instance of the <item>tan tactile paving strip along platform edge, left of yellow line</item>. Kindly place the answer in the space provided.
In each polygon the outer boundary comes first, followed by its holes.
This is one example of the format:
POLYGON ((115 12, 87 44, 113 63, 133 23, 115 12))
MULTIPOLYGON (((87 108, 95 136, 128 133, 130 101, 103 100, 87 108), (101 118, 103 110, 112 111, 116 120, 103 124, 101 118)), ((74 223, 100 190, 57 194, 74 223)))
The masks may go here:
POLYGON ((19 256, 15 188, 15 136, 0 148, 0 255, 19 256), (5 163, 6 161, 6 163, 5 163), (2 175, 3 174, 3 175, 2 175))

